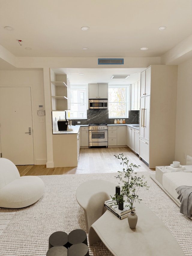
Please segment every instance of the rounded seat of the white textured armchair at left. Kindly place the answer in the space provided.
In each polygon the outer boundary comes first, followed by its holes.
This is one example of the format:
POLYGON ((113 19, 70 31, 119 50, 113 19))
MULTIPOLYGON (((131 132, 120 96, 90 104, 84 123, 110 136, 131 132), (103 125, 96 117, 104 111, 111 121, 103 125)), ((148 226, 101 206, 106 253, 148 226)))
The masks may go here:
POLYGON ((29 206, 42 197, 44 188, 44 182, 38 176, 19 177, 0 189, 0 207, 29 206))

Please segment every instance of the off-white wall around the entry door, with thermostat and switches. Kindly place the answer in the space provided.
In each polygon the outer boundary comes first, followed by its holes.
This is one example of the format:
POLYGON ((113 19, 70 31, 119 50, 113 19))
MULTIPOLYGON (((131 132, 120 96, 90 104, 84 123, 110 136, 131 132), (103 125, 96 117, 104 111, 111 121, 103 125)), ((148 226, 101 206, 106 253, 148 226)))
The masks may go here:
POLYGON ((38 122, 37 115, 39 104, 45 109, 43 70, 0 71, 0 86, 31 87, 35 164, 46 164, 46 123, 38 122))

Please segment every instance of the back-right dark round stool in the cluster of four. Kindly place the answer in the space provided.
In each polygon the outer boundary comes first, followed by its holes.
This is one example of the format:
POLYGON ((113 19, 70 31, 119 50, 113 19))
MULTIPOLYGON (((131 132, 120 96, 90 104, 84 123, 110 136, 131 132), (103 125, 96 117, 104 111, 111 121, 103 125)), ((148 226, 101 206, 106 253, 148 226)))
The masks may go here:
POLYGON ((68 246, 84 243, 87 245, 87 234, 82 229, 74 229, 68 234, 68 246))

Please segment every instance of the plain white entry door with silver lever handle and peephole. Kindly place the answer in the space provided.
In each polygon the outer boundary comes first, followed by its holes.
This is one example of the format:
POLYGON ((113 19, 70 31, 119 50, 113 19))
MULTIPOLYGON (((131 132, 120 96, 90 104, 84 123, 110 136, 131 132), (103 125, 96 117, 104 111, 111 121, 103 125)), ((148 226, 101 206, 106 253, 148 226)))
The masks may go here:
POLYGON ((3 158, 34 164, 30 87, 0 87, 0 136, 3 158))

